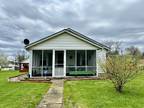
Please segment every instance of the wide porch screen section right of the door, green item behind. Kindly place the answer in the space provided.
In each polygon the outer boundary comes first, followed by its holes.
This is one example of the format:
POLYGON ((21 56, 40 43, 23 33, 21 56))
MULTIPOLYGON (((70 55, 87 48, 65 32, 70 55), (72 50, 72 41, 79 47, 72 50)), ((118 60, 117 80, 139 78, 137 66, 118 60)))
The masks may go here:
POLYGON ((96 50, 66 51, 66 75, 83 76, 96 73, 96 50))

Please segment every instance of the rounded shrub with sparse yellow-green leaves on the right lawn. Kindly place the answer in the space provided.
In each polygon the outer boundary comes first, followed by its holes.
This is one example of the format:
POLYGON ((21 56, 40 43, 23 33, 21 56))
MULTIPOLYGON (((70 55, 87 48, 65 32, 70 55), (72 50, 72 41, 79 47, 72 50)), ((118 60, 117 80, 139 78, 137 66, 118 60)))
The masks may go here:
POLYGON ((101 66, 118 92, 122 92, 124 85, 138 73, 137 61, 132 56, 109 56, 101 66))

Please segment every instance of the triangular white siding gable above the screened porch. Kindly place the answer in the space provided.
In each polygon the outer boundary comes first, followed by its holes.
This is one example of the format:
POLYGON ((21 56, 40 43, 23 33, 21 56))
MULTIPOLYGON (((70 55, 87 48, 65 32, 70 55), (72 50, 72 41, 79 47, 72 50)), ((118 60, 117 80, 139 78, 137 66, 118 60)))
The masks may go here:
POLYGON ((49 39, 41 44, 33 46, 31 49, 96 49, 95 46, 84 42, 70 34, 63 33, 57 37, 49 39))

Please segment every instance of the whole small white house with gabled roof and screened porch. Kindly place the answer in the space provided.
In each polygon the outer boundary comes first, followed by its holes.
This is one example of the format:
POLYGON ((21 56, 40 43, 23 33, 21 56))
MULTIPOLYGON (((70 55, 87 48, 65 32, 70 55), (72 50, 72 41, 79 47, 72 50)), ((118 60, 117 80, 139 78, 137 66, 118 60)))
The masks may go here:
POLYGON ((42 38, 25 48, 30 53, 30 77, 98 77, 102 73, 99 62, 105 62, 109 50, 109 47, 70 28, 42 38))

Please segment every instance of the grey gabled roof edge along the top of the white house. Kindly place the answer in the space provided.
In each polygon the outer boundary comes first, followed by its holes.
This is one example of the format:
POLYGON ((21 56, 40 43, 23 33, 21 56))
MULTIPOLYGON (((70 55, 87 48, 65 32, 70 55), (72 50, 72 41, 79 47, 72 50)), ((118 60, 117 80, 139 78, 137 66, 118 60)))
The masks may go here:
POLYGON ((89 37, 87 37, 87 36, 85 36, 85 35, 83 35, 83 34, 81 34, 81 33, 79 33, 79 32, 77 32, 77 31, 75 31, 75 30, 73 30, 73 29, 71 29, 71 28, 67 28, 67 29, 63 29, 63 30, 61 30, 61 31, 59 31, 59 32, 56 32, 56 33, 54 33, 54 34, 52 34, 52 35, 49 35, 49 36, 47 36, 47 37, 45 37, 45 38, 42 38, 42 39, 39 39, 38 41, 35 41, 35 42, 32 42, 32 43, 30 43, 29 45, 27 45, 27 46, 25 46, 25 48, 26 49, 28 49, 28 48, 30 48, 30 47, 32 47, 32 46, 35 46, 35 45, 37 45, 37 44, 39 44, 39 43, 42 43, 42 42, 44 42, 44 41, 46 41, 46 40, 48 40, 48 39, 51 39, 51 38, 53 38, 53 37, 55 37, 55 36, 58 36, 59 34, 62 34, 62 33, 72 33, 72 34, 74 34, 74 35, 77 35, 77 36, 79 36, 80 38, 83 38, 85 41, 87 41, 88 43, 92 43, 93 45, 95 45, 95 46, 99 46, 100 48, 104 48, 104 49, 106 49, 106 50, 110 50, 110 48, 108 47, 108 46, 106 46, 106 45, 104 45, 104 44, 102 44, 102 43, 99 43, 99 42, 97 42, 97 41, 95 41, 95 40, 93 40, 93 39, 91 39, 91 38, 89 38, 89 37))

